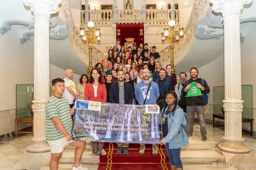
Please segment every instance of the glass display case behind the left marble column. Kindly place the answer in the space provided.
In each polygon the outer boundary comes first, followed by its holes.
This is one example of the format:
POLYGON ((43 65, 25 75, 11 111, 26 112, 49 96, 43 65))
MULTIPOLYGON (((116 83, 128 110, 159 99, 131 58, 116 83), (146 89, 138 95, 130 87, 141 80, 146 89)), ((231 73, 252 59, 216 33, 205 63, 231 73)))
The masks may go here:
POLYGON ((16 119, 33 119, 32 100, 34 84, 16 84, 16 119))

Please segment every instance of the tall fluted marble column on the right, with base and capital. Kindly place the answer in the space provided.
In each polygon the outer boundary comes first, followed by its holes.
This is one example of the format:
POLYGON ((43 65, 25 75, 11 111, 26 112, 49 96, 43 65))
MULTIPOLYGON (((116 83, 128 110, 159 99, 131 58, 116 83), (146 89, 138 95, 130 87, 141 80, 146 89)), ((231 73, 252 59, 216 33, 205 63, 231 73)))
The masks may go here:
POLYGON ((218 145, 227 163, 255 163, 242 137, 242 92, 240 17, 244 4, 252 0, 210 0, 214 12, 221 12, 224 23, 225 139, 218 145))

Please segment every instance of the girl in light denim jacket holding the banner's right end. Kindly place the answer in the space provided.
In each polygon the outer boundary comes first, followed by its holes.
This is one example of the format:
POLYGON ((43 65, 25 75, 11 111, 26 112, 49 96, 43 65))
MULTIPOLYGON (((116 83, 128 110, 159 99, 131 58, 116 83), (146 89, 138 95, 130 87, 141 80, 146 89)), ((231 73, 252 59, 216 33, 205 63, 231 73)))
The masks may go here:
POLYGON ((162 129, 162 140, 169 158, 171 170, 183 170, 180 159, 181 147, 188 145, 188 137, 183 127, 186 126, 184 112, 178 106, 177 94, 168 92, 165 96, 166 108, 159 114, 162 129))

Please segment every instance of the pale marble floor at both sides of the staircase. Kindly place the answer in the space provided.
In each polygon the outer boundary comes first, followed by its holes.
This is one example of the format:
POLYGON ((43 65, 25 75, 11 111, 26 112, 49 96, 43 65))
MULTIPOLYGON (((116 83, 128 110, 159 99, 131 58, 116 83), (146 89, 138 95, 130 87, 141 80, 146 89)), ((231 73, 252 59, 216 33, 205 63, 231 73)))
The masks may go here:
MULTIPOLYGON (((213 129, 210 124, 207 124, 207 134, 220 142, 224 141, 222 139, 224 130, 219 128, 213 129)), ((26 147, 32 143, 31 137, 32 135, 27 134, 18 138, 11 138, 8 141, 0 141, 0 170, 20 170, 20 160, 26 147)), ((245 138, 244 145, 249 147, 256 157, 256 138, 246 134, 243 134, 243 137, 245 138)), ((184 169, 188 168, 186 166, 190 165, 184 165, 184 169)), ((92 169, 90 168, 90 170, 92 169)))

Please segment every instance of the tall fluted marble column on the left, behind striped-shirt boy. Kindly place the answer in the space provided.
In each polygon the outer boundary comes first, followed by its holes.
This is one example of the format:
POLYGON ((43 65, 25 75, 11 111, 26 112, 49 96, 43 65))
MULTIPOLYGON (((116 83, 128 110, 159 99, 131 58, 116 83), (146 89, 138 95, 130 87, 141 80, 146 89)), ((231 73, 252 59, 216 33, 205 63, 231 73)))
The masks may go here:
POLYGON ((49 164, 50 148, 45 139, 45 105, 49 98, 50 14, 58 12, 60 0, 23 0, 34 13, 34 136, 26 148, 21 168, 39 170, 49 164))

